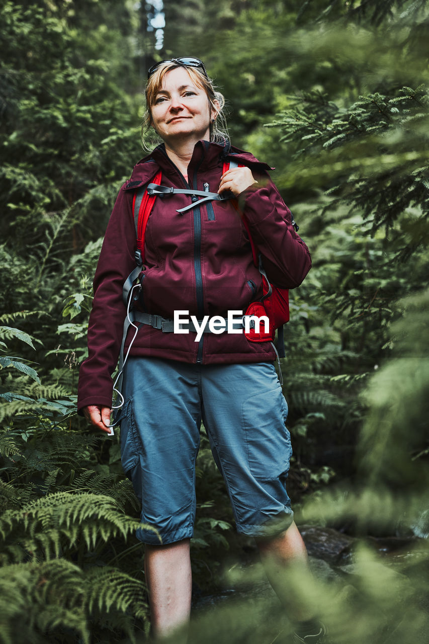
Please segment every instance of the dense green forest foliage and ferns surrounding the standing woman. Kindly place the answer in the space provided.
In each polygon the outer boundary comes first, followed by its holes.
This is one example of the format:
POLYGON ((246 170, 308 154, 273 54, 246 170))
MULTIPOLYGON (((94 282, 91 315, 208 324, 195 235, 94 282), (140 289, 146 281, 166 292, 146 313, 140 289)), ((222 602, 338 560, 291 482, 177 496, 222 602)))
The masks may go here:
MULTIPOLYGON (((148 632, 119 437, 88 428, 75 395, 102 234, 144 155, 145 70, 189 53, 227 97, 233 143, 276 166, 314 260, 291 292, 282 365, 290 494, 298 522, 358 545, 353 583, 346 573, 287 583, 314 596, 334 641, 424 641, 427 542, 386 563, 367 537, 429 533, 427 3, 164 0, 163 10, 159 50, 150 5, 0 5, 0 641, 148 632)), ((207 590, 224 583, 227 548, 240 558, 250 545, 233 535, 206 440, 197 487, 193 565, 207 590)), ((200 616, 190 641, 287 635, 276 603, 253 600, 249 618, 246 602, 200 616)))

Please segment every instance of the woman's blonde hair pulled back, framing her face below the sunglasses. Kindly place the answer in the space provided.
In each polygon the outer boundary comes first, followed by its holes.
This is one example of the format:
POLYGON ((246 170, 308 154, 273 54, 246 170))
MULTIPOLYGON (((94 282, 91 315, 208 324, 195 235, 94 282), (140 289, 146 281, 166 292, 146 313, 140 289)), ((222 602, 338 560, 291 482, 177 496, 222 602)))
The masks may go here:
MULTIPOLYGON (((155 133, 155 130, 152 129, 151 106, 153 106, 155 96, 162 87, 162 81, 164 80, 164 76, 167 71, 174 70, 177 67, 182 67, 182 65, 173 61, 164 62, 153 72, 146 84, 146 90, 144 91, 146 97, 146 111, 144 112, 142 122, 142 143, 143 147, 148 150, 151 149, 149 145, 153 146, 153 144, 158 144, 161 140, 157 133, 155 133), (149 135, 149 133, 151 133, 151 135, 149 135)), ((205 91, 210 109, 213 109, 216 112, 214 123, 211 122, 209 125, 210 140, 214 143, 224 143, 228 138, 227 123, 223 111, 225 106, 224 95, 221 94, 220 91, 215 90, 213 81, 209 79, 200 68, 187 67, 186 65, 183 65, 183 67, 189 74, 191 81, 193 81, 197 87, 205 91)))

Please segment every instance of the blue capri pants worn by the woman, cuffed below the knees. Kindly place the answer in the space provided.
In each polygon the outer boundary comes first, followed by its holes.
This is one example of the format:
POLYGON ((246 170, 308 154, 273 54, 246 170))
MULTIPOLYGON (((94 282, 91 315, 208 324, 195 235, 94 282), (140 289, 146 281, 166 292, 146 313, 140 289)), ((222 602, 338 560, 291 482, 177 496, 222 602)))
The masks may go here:
MULTIPOLYGON (((155 527, 163 544, 193 536, 201 421, 238 532, 274 536, 291 525, 291 437, 272 363, 193 365, 130 357, 122 393, 122 467, 142 504, 142 523, 155 527)), ((160 544, 147 529, 138 528, 137 538, 160 544)))

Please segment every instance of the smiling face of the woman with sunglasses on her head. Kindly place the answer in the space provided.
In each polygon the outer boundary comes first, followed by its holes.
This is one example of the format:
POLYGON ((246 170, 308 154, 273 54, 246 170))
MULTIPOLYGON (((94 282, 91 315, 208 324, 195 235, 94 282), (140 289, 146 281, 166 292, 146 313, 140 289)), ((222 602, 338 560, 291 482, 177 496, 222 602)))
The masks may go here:
POLYGON ((151 112, 152 125, 164 141, 188 137, 209 140, 212 111, 207 94, 193 83, 184 67, 167 71, 151 112))

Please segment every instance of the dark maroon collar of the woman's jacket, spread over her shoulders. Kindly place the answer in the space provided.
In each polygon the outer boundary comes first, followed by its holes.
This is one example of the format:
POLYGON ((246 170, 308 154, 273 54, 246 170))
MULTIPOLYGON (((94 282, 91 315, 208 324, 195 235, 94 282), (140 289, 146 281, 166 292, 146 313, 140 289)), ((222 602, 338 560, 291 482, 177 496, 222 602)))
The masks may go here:
MULTIPOLYGON (((231 146, 229 140, 225 140, 224 144, 204 140, 196 142, 189 168, 191 170, 197 168, 198 171, 204 171, 209 167, 219 166, 231 158, 234 158, 234 160, 245 166, 259 166, 260 169, 264 170, 274 169, 260 162, 250 152, 245 152, 238 147, 231 146)), ((175 171, 175 166, 173 166, 167 156, 163 143, 155 147, 148 156, 144 156, 144 158, 138 161, 133 168, 131 178, 124 184, 124 190, 135 189, 139 185, 148 183, 159 170, 165 173, 175 171)))

